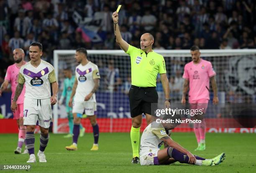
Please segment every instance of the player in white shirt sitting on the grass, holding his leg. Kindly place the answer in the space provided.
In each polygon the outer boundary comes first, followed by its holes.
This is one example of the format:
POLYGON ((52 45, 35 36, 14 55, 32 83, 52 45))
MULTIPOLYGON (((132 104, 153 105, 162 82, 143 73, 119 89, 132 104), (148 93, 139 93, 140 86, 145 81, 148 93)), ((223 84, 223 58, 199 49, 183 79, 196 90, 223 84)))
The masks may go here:
MULTIPOLYGON (((141 165, 169 165, 179 161, 179 163, 213 166, 220 164, 225 159, 225 153, 221 153, 212 159, 205 159, 193 155, 172 140, 166 134, 164 127, 166 128, 166 125, 153 121, 143 131, 140 150, 141 165), (160 150, 159 148, 163 143, 166 143, 169 147, 160 150)), ((166 129, 170 130, 172 128, 166 129)))

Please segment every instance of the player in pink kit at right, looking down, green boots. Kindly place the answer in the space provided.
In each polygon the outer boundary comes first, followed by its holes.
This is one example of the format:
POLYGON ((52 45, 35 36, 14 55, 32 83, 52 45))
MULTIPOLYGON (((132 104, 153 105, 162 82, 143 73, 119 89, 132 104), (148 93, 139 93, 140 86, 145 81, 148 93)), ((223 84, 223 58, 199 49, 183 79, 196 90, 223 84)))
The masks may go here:
MULTIPOLYGON (((182 103, 186 103, 186 94, 189 88, 189 103, 191 109, 202 109, 205 113, 209 97, 209 82, 212 83, 212 90, 214 93, 213 104, 218 104, 217 85, 215 82, 215 71, 212 68, 212 64, 209 61, 200 58, 200 50, 197 46, 192 46, 190 49, 192 61, 187 63, 184 67, 184 84, 182 103)), ((197 138, 198 146, 195 150, 205 150, 205 133, 206 125, 204 115, 195 115, 195 118, 202 120, 201 123, 194 123, 194 132, 197 138)))

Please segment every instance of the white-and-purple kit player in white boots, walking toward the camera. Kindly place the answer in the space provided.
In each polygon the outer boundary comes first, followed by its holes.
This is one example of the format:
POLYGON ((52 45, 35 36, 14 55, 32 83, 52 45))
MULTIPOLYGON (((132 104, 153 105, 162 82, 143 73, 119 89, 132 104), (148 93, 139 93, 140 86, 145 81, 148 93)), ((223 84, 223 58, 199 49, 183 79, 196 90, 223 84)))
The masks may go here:
POLYGON ((29 153, 27 163, 35 163, 36 156, 34 151, 35 136, 34 130, 36 122, 40 126, 40 149, 37 153, 39 162, 46 162, 44 150, 49 141, 49 127, 52 120, 51 105, 57 100, 58 83, 54 73, 54 67, 41 59, 43 48, 41 43, 31 43, 29 47, 29 56, 31 61, 20 68, 18 77, 18 85, 15 90, 11 110, 17 111, 17 99, 23 90, 25 83, 25 99, 24 99, 24 125, 27 127, 26 144, 29 153), (51 96, 51 88, 52 93, 51 96))

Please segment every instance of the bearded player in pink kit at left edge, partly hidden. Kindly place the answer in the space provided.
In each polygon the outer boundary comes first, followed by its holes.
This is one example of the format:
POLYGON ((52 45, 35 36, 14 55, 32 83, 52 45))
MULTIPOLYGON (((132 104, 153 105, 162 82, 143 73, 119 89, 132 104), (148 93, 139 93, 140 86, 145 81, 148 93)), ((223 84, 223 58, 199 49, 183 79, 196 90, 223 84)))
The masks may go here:
MULTIPOLYGON (((11 89, 12 89, 11 100, 13 100, 16 86, 18 84, 18 75, 19 75, 20 67, 26 64, 26 62, 24 61, 24 56, 25 56, 24 50, 20 48, 13 50, 13 58, 15 63, 13 65, 10 65, 7 69, 7 72, 5 75, 5 81, 3 82, 0 88, 0 96, 2 95, 2 92, 8 87, 10 83, 11 89)), ((14 151, 15 154, 21 153, 21 148, 26 136, 26 126, 23 125, 24 94, 25 94, 25 87, 23 88, 22 93, 20 94, 20 97, 17 100, 18 109, 15 112, 13 112, 13 118, 17 120, 18 127, 19 127, 18 147, 14 151)), ((24 154, 28 153, 28 150, 25 149, 23 153, 24 154)))

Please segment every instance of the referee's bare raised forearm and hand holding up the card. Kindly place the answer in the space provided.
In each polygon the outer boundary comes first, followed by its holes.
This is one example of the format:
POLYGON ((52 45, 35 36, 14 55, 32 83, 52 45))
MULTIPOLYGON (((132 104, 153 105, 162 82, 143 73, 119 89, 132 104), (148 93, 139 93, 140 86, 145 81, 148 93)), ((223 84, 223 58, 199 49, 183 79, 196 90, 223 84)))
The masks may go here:
POLYGON ((122 35, 119 30, 118 26, 118 13, 114 12, 112 14, 113 22, 114 22, 114 33, 115 33, 115 41, 118 43, 121 49, 123 49, 125 52, 127 52, 129 48, 129 44, 123 40, 122 35))

